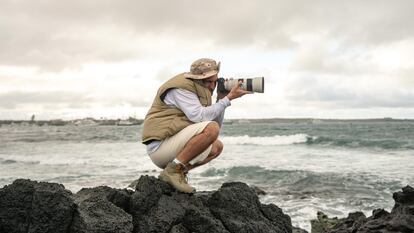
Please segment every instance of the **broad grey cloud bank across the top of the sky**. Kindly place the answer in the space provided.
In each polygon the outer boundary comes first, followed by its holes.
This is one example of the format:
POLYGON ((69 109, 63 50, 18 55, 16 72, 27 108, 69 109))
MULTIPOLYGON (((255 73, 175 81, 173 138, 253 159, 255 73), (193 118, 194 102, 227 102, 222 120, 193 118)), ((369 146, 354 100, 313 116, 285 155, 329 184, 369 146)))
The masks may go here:
POLYGON ((413 36, 414 2, 400 1, 2 1, 0 64, 62 69, 85 62, 149 56, 146 35, 222 49, 291 48, 320 33, 349 44, 413 36))

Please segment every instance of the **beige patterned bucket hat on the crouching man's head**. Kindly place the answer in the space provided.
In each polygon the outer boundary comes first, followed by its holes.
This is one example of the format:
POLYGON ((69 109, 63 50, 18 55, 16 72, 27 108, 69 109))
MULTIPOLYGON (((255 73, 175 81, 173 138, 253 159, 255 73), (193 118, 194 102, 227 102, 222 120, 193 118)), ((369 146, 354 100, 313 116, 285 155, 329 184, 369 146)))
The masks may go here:
POLYGON ((190 72, 184 73, 184 77, 192 79, 205 79, 218 74, 220 62, 210 58, 201 58, 191 64, 190 72))

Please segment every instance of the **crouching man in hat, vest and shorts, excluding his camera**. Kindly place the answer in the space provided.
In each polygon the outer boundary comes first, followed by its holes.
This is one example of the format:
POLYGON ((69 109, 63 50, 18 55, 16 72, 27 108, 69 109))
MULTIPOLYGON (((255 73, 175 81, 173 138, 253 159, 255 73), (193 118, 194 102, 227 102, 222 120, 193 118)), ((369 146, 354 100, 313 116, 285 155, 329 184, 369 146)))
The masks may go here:
POLYGON ((152 162, 164 169, 159 178, 181 192, 195 192, 186 174, 223 150, 217 138, 230 101, 250 93, 235 86, 217 93, 212 104, 219 70, 220 63, 212 59, 194 61, 190 72, 161 85, 144 120, 142 143, 152 162))

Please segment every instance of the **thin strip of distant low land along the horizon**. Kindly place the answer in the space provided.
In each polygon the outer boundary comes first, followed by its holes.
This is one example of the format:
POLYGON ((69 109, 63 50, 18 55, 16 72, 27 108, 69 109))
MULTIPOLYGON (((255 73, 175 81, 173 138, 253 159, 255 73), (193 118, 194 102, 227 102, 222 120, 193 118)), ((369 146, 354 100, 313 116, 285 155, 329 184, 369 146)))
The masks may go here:
MULTIPOLYGON (((75 120, 62 120, 62 119, 53 119, 53 120, 35 120, 32 117, 31 120, 0 120, 1 125, 37 125, 37 126, 65 126, 65 125, 74 125, 74 126, 87 126, 87 125, 115 125, 115 126, 133 126, 141 125, 143 119, 136 119, 129 117, 127 119, 95 119, 95 118, 82 118, 75 120)), ((233 124, 233 123, 307 123, 307 124, 317 124, 317 123, 329 123, 329 122, 414 122, 414 119, 394 119, 390 117, 384 118, 372 118, 372 119, 321 119, 321 118, 264 118, 264 119, 225 119, 224 124, 233 124)))

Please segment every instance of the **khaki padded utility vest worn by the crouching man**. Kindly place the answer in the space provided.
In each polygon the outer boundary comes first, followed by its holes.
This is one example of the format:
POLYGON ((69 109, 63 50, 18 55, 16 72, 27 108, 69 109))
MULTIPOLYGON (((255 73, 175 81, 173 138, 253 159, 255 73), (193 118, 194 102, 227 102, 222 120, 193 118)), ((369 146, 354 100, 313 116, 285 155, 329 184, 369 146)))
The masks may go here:
POLYGON ((164 140, 194 124, 180 109, 164 103, 167 92, 174 88, 191 91, 198 96, 201 105, 211 105, 211 92, 208 88, 192 79, 185 78, 184 73, 171 78, 158 89, 154 102, 145 117, 142 143, 150 140, 164 140))

